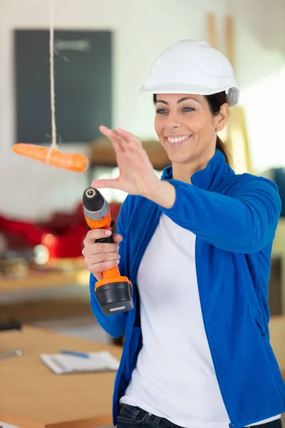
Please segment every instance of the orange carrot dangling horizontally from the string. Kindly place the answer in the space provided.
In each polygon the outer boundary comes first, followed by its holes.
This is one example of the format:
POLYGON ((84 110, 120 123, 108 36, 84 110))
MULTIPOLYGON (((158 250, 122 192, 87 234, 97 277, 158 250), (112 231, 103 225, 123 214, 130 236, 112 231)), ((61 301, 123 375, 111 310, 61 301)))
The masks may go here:
POLYGON ((87 170, 89 161, 86 156, 77 153, 64 153, 47 147, 40 147, 34 144, 18 143, 13 146, 13 151, 21 156, 35 159, 47 163, 57 168, 82 173, 87 170))

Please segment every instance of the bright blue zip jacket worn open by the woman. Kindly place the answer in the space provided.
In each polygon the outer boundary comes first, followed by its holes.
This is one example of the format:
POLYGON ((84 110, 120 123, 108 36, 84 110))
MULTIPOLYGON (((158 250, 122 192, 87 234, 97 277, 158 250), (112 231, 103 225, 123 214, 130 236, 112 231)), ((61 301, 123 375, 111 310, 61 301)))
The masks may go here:
POLYGON ((197 235, 202 316, 229 427, 241 428, 284 412, 284 380, 269 343, 267 302, 271 245, 281 210, 276 185, 254 175, 236 175, 219 151, 204 170, 192 175, 192 185, 172 180, 171 167, 162 180, 175 186, 172 208, 129 195, 118 219, 118 233, 123 235, 120 272, 133 283, 135 309, 103 315, 90 275, 93 314, 109 335, 125 334, 113 395, 114 424, 142 347, 138 267, 161 213, 197 235))

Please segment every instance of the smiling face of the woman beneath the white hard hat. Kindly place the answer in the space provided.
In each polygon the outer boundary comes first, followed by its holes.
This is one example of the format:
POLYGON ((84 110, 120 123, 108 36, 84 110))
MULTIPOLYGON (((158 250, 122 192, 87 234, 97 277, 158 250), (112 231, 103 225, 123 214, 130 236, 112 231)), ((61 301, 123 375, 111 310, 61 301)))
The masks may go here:
POLYGON ((214 116, 202 95, 157 94, 155 131, 172 164, 207 163, 214 156, 217 131, 229 113, 223 104, 214 116))

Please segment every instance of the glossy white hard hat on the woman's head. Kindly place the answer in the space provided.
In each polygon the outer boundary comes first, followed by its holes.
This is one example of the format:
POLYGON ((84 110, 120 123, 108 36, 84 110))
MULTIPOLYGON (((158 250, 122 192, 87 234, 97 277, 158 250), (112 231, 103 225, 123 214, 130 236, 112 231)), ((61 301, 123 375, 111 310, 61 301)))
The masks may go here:
POLYGON ((140 94, 212 95, 222 91, 227 93, 229 106, 239 102, 239 88, 229 60, 205 41, 182 40, 156 58, 140 94))

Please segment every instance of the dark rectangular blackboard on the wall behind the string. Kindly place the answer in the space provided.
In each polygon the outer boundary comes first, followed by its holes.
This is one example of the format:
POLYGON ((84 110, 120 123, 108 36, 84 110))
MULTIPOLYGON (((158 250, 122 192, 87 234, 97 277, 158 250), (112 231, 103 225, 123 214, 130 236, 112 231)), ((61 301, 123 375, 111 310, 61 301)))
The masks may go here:
MULTIPOLYGON (((112 125, 112 33, 55 31, 57 135, 90 142, 112 125)), ((16 143, 51 142, 49 31, 14 31, 16 143)))

